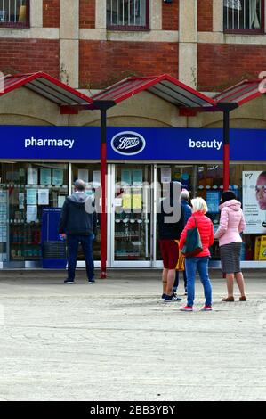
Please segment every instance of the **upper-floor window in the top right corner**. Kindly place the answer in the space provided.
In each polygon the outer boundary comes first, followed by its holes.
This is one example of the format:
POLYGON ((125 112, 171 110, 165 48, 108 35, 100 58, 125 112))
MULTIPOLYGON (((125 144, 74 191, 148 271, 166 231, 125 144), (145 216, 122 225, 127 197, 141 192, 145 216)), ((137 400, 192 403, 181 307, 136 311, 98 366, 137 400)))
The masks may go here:
POLYGON ((225 32, 262 33, 264 0, 223 0, 225 32))

